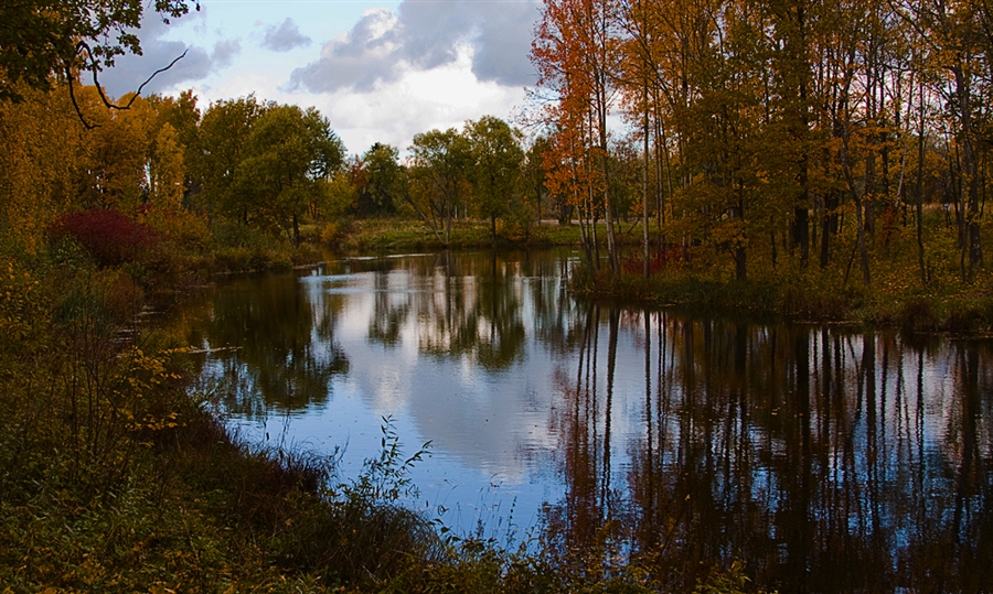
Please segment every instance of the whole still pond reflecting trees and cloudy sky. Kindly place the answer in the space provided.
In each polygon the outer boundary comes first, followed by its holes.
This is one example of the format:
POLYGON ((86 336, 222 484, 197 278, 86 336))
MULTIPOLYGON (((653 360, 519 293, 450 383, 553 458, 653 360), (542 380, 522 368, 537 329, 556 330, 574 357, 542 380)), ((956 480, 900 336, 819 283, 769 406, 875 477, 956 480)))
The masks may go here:
POLYGON ((579 548, 617 520, 685 580, 993 591, 990 342, 584 303, 576 258, 343 258, 180 318, 243 439, 348 478, 389 419, 404 453, 430 442, 407 504, 462 536, 579 548))

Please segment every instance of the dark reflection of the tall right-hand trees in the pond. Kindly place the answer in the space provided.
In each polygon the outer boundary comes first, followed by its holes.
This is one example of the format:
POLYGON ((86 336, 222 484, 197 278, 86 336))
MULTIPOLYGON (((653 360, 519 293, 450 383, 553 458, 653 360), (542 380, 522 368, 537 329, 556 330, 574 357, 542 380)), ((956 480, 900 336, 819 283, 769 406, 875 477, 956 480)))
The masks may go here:
POLYGON ((618 317, 594 306, 578 371, 557 375, 567 494, 551 539, 588 546, 619 520, 674 587, 738 558, 790 592, 993 590, 979 569, 993 559, 989 350, 665 313, 620 323, 645 353, 643 430, 611 443, 618 317))

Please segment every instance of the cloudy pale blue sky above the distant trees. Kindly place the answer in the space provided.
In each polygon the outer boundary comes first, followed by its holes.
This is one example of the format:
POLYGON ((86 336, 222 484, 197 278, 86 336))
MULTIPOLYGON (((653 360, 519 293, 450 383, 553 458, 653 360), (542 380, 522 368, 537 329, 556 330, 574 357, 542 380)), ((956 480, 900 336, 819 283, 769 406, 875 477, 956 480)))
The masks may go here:
MULTIPOLYGON (((191 2, 192 3, 192 2, 191 2)), ((147 11, 141 56, 100 83, 115 97, 192 89, 212 101, 316 107, 350 154, 402 152, 414 134, 492 115, 514 122, 537 75, 528 60, 540 0, 201 0, 166 24, 147 11)))

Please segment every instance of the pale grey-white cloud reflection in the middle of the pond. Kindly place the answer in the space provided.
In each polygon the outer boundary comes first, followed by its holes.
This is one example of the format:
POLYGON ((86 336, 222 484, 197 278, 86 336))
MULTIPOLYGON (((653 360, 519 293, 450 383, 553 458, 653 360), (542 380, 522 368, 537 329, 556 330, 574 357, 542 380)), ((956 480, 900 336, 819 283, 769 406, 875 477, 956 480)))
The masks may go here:
MULTIPOLYGON (((429 262, 436 257, 421 258, 429 262)), ((349 273, 301 279, 316 302, 342 300, 333 334, 352 361, 345 381, 377 415, 409 418, 437 453, 501 482, 528 480, 531 467, 551 457, 559 440, 547 420, 560 398, 548 377, 556 361, 534 338, 530 315, 528 293, 541 284, 524 282, 520 263, 498 266, 508 283, 506 293, 499 293, 478 284, 480 278, 490 282, 489 258, 478 269, 450 273, 434 266, 421 276, 404 268, 415 260, 352 259, 337 264, 349 273), (521 321, 525 339, 514 347, 523 353, 506 359, 509 367, 498 361, 488 370, 480 358, 508 339, 492 318, 506 299, 528 314, 521 321), (394 342, 370 342, 372 327, 402 311, 394 342), (465 331, 469 334, 460 334, 465 331)))

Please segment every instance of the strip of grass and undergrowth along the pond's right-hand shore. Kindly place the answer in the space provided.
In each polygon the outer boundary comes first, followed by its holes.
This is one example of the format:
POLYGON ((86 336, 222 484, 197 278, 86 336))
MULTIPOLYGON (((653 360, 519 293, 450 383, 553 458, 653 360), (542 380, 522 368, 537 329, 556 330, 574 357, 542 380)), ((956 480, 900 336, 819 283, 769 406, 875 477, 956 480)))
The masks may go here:
MULTIPOLYGON (((748 279, 738 281, 726 252, 695 246, 690 261, 677 251, 656 252, 649 279, 642 276, 640 253, 624 260, 618 276, 584 266, 574 274, 573 288, 594 299, 639 306, 675 305, 718 315, 848 323, 916 334, 993 335, 993 270, 981 268, 971 283, 963 282, 953 234, 931 220, 926 237, 927 283, 908 227, 871 246, 867 287, 857 261, 835 256, 824 268, 814 261, 801 266, 798 255, 780 253, 773 260, 759 248, 749 255, 748 279)), ((854 253, 853 248, 853 237, 836 238, 836 255, 854 253)))

